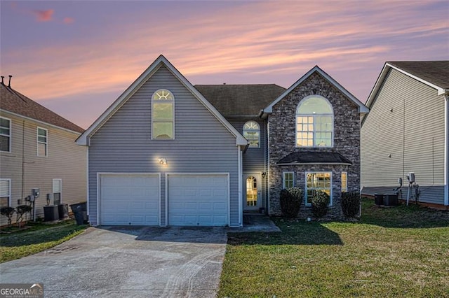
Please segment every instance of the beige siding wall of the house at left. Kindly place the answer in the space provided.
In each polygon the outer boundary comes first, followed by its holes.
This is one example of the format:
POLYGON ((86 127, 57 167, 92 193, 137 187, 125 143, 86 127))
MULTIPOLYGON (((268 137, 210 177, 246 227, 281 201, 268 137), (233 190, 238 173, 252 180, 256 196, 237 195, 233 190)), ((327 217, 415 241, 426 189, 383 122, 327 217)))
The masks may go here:
MULTIPOLYGON (((12 122, 11 152, 0 152, 0 178, 11 179, 11 206, 25 204, 32 188, 39 188, 36 217, 43 218, 46 195, 53 193, 53 179, 62 179, 62 204, 86 201, 86 147, 76 145, 79 134, 4 111, 1 116, 12 122), (47 157, 36 154, 37 127, 48 129, 47 157)), ((5 223, 6 218, 1 216, 0 224, 5 223)))

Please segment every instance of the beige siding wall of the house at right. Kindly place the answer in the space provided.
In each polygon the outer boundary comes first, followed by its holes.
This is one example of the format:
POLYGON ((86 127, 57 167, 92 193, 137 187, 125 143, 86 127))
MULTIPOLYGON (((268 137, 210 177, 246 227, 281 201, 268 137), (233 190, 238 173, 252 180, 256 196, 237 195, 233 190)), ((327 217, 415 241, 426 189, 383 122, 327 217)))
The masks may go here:
POLYGON ((421 201, 443 204, 444 134, 444 98, 391 69, 361 129, 361 185, 396 185, 401 177, 407 186, 414 172, 422 189, 432 189, 421 201))

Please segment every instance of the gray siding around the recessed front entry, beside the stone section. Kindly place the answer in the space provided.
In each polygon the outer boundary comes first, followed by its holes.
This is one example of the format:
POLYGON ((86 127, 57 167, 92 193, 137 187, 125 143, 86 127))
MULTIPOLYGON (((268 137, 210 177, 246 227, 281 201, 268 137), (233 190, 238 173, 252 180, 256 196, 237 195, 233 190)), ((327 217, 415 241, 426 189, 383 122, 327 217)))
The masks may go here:
MULTIPOLYGON (((260 126, 260 148, 248 147, 246 152, 243 153, 243 173, 264 173, 267 171, 266 165, 266 150, 267 150, 267 125, 264 120, 260 118, 227 118, 227 120, 241 133, 243 134, 243 125, 248 121, 255 121, 260 126)), ((245 181, 243 181, 243 184, 245 181)), ((242 185, 243 190, 246 189, 245 185, 242 185)), ((267 183, 266 178, 262 178, 262 204, 260 206, 266 207, 267 202, 267 183)), ((243 195, 243 200, 244 200, 243 195)), ((244 206, 244 204, 243 204, 244 206)))

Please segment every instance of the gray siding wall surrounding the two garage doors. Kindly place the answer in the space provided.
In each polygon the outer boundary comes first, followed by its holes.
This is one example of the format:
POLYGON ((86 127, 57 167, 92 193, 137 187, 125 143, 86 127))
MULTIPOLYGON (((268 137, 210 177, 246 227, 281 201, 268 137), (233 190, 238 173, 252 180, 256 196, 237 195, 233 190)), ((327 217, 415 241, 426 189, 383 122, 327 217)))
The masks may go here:
POLYGON ((165 66, 91 137, 90 220, 97 225, 97 173, 161 173, 161 224, 166 224, 166 173, 229 173, 230 225, 239 226, 236 138, 165 66), (161 88, 175 97, 175 139, 151 139, 151 98, 161 88), (167 164, 157 159, 165 157, 167 164))

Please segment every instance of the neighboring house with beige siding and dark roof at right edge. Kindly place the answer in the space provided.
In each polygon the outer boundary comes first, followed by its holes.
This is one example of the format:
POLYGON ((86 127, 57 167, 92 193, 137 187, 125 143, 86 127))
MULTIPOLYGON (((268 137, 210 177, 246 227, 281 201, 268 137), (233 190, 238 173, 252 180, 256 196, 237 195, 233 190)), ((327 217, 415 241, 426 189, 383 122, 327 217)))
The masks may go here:
MULTIPOLYGON (((420 202, 449 205, 449 61, 387 62, 362 122, 362 192, 390 192, 415 173, 420 202)), ((447 207, 446 207, 447 208, 447 207)))

